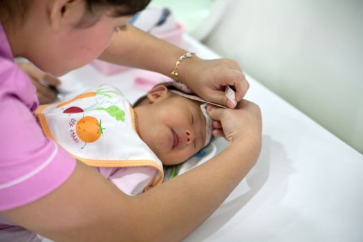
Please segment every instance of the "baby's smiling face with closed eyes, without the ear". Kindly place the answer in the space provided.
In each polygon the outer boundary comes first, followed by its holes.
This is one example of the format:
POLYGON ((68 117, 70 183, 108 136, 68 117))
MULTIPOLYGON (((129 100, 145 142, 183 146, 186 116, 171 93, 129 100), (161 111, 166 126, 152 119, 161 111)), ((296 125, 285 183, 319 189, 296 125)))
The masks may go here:
POLYGON ((142 140, 164 165, 175 165, 194 156, 205 142, 205 118, 201 102, 171 94, 153 104, 150 129, 142 140))

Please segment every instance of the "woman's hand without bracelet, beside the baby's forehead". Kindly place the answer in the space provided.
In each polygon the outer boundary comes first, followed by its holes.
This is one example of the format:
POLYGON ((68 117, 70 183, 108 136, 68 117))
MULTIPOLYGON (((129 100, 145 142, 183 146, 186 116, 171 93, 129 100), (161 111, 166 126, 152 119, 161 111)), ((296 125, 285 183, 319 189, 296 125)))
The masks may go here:
POLYGON ((242 100, 237 104, 236 109, 223 109, 209 105, 207 112, 214 120, 213 135, 215 137, 225 136, 230 143, 241 138, 261 142, 261 110, 257 104, 242 100))

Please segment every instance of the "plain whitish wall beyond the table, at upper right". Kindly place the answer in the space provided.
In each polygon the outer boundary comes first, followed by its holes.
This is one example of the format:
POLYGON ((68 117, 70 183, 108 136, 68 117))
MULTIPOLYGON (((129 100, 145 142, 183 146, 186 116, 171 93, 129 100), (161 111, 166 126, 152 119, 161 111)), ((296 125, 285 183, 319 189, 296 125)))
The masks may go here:
POLYGON ((363 153, 363 0, 234 0, 205 43, 363 153))

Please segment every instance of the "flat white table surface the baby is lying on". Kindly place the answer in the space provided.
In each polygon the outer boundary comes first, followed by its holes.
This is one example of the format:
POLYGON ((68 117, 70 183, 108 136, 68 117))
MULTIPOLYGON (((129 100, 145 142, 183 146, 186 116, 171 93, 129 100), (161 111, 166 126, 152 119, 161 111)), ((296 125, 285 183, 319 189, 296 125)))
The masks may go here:
MULTIPOLYGON (((200 57, 219 57, 192 37, 184 41, 200 57)), ((133 102, 145 93, 133 84, 136 73, 105 76, 84 66, 62 80, 65 86, 113 84, 133 102)), ((363 241, 363 155, 247 77, 246 98, 263 115, 261 156, 185 241, 363 241)), ((226 145, 214 142, 219 150, 226 145)))

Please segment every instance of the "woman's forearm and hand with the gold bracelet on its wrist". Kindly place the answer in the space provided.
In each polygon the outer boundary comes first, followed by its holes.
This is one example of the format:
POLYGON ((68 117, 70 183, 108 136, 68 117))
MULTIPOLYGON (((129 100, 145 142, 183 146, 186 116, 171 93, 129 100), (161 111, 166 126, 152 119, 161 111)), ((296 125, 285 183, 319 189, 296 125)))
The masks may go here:
MULTIPOLYGON (((171 77, 176 61, 187 50, 153 37, 133 26, 113 35, 99 57, 106 62, 156 71, 171 77)), ((198 54, 198 53, 197 53, 198 54)), ((201 59, 194 55, 178 67, 178 80, 203 99, 234 108, 224 95, 225 86, 234 86, 236 101, 242 100, 249 84, 239 64, 232 59, 201 59)))

